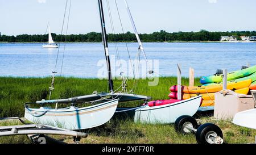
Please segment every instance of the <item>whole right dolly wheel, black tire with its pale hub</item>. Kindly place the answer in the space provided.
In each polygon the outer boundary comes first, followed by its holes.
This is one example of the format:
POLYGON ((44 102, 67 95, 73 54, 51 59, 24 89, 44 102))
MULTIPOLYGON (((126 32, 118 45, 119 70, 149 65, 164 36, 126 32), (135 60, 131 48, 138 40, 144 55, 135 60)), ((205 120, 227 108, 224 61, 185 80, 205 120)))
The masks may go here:
POLYGON ((199 144, 222 144, 223 134, 217 125, 205 123, 197 129, 196 141, 199 144))

